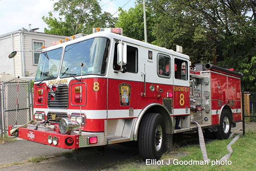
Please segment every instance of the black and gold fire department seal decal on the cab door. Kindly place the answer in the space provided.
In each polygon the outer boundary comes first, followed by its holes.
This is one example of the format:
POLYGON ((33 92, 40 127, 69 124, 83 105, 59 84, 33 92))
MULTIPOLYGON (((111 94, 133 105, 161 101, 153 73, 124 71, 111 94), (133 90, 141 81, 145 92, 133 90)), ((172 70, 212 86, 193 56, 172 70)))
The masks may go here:
POLYGON ((131 85, 128 83, 119 84, 120 106, 130 106, 131 85))

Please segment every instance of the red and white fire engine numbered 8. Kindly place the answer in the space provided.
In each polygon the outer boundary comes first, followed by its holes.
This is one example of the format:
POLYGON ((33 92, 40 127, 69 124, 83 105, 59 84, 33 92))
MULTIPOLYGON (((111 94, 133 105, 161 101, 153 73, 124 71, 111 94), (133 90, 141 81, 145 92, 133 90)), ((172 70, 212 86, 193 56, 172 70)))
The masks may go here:
POLYGON ((33 118, 40 122, 19 127, 18 137, 99 152, 137 141, 144 160, 158 160, 173 134, 198 129, 194 121, 220 139, 241 122, 241 73, 190 68, 187 55, 106 31, 70 39, 41 52, 33 118))

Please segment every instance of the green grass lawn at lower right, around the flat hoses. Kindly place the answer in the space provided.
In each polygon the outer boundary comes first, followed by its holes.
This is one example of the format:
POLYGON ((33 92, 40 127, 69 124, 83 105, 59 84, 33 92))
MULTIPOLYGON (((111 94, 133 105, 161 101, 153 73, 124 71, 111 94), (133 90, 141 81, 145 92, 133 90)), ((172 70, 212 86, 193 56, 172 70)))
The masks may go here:
POLYGON ((208 165, 166 165, 169 160, 176 159, 180 163, 189 161, 203 161, 203 156, 199 145, 176 146, 174 151, 164 154, 160 160, 164 160, 162 165, 146 165, 145 162, 131 160, 122 163, 111 164, 111 168, 105 167, 105 170, 115 171, 256 171, 256 132, 247 132, 242 135, 236 143, 232 145, 233 154, 226 163, 216 164, 216 160, 220 160, 224 155, 228 154, 227 145, 229 140, 213 140, 206 144, 208 158, 213 161, 208 165), (181 155, 177 155, 181 154, 181 155))

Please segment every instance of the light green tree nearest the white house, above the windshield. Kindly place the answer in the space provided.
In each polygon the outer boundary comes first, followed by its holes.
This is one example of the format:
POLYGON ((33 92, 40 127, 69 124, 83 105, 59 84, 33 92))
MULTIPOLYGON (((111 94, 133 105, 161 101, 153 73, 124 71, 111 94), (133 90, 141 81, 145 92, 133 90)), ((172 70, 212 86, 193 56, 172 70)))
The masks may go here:
POLYGON ((111 27, 116 18, 110 13, 102 13, 102 9, 96 0, 59 0, 54 3, 54 11, 58 11, 59 20, 52 16, 44 17, 44 22, 49 29, 44 32, 71 36, 78 33, 90 34, 93 27, 111 27))

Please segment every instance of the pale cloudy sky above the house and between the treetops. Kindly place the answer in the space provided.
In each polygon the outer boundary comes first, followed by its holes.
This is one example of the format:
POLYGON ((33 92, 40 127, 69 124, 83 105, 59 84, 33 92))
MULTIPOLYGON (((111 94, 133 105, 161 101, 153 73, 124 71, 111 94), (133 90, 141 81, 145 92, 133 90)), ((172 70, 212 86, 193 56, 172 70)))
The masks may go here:
MULTIPOLYGON (((47 28, 47 25, 42 20, 42 17, 48 17, 49 11, 53 12, 53 3, 57 1, 58 0, 0 0, 0 35, 22 28, 27 30, 39 28, 37 30, 38 32, 44 32, 44 28, 47 28)), ((110 12, 112 15, 122 6, 124 6, 122 8, 124 10, 134 8, 135 1, 136 0, 98 0, 99 5, 102 6, 102 12, 110 12)), ((119 12, 117 12, 114 17, 118 17, 118 13, 119 12)), ((58 19, 58 12, 53 12, 53 16, 58 19)))

